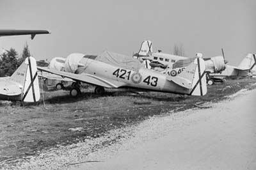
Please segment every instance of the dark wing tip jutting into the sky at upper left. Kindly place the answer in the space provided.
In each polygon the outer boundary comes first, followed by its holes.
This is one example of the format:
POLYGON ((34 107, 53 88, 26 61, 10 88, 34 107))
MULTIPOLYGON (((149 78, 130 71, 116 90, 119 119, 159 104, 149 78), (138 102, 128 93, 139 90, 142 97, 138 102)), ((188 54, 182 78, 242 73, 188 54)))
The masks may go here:
POLYGON ((0 36, 15 36, 15 35, 31 35, 33 40, 36 35, 50 34, 47 30, 29 30, 29 29, 0 29, 0 36))

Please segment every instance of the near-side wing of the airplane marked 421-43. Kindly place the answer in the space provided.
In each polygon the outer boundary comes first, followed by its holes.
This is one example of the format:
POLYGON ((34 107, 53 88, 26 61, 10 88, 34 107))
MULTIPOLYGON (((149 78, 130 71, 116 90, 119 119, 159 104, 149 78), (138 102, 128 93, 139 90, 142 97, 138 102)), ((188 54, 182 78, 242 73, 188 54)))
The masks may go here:
POLYGON ((40 66, 38 66, 37 69, 40 71, 60 75, 61 77, 67 77, 74 81, 85 82, 88 84, 102 86, 105 88, 119 88, 120 86, 122 86, 122 84, 117 84, 115 82, 113 83, 113 82, 108 81, 107 79, 102 79, 101 77, 98 77, 96 75, 91 75, 88 73, 76 74, 76 73, 69 73, 69 72, 61 72, 58 70, 52 70, 52 69, 44 68, 44 67, 40 67, 40 66))

